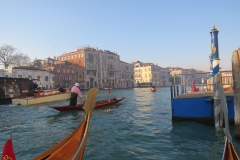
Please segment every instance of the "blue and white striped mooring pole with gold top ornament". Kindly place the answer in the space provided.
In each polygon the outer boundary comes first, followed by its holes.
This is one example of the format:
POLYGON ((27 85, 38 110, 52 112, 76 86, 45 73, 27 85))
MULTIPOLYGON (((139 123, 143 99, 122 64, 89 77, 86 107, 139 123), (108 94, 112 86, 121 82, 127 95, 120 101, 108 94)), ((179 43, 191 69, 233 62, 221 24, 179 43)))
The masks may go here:
MULTIPOLYGON (((219 73, 219 53, 218 53, 218 30, 216 25, 213 24, 213 29, 210 31, 211 34, 211 60, 212 61, 212 74, 213 77, 213 90, 214 90, 214 120, 215 127, 222 127, 223 125, 223 114, 221 109, 221 101, 218 92, 218 84, 220 81, 219 73)), ((210 65, 211 67, 211 65, 210 65)))

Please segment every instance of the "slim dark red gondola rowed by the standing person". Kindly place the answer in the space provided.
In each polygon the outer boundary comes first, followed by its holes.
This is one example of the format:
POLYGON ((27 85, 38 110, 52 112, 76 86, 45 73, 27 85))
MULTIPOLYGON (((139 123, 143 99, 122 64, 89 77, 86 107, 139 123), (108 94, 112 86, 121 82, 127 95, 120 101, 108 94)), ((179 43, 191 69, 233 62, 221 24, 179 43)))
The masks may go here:
MULTIPOLYGON (((110 106, 113 104, 116 104, 120 101, 122 101, 125 97, 118 97, 118 98, 112 98, 112 99, 108 99, 108 100, 101 100, 101 101, 97 101, 95 103, 95 108, 101 108, 101 107, 106 107, 106 106, 110 106)), ((78 106, 48 106, 50 108, 53 108, 55 110, 58 111, 79 111, 79 110, 83 110, 83 104, 79 104, 78 106)))

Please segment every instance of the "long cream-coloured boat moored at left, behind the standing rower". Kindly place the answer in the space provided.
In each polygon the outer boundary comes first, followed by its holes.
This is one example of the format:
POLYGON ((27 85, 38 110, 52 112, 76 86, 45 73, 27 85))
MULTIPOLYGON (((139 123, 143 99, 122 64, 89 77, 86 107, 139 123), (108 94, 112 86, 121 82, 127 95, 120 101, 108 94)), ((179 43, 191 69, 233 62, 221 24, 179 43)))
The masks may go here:
POLYGON ((57 90, 34 93, 34 96, 12 99, 14 105, 35 105, 46 102, 67 100, 70 98, 70 92, 60 93, 57 90))

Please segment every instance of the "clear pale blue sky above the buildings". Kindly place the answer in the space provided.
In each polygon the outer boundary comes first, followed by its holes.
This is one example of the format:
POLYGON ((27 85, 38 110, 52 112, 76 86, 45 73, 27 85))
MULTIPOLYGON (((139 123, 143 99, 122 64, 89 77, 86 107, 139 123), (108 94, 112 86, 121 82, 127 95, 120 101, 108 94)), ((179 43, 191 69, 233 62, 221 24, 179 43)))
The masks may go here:
POLYGON ((125 62, 209 71, 210 31, 222 70, 240 47, 240 1, 0 0, 0 46, 43 59, 89 45, 125 62))

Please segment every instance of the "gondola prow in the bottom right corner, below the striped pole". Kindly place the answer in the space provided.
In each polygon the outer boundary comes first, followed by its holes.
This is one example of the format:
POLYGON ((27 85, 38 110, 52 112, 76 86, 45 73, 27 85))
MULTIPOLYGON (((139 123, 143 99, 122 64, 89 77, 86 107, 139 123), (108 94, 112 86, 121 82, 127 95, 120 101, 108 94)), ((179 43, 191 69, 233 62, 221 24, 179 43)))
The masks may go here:
POLYGON ((224 90, 221 85, 218 85, 218 90, 219 90, 219 95, 220 95, 221 104, 222 104, 222 111, 224 114, 224 123, 225 123, 224 133, 226 134, 222 159, 223 160, 238 160, 239 158, 238 158, 238 155, 232 144, 232 137, 229 132, 228 109, 227 109, 226 96, 225 96, 224 90))

